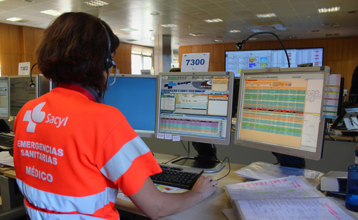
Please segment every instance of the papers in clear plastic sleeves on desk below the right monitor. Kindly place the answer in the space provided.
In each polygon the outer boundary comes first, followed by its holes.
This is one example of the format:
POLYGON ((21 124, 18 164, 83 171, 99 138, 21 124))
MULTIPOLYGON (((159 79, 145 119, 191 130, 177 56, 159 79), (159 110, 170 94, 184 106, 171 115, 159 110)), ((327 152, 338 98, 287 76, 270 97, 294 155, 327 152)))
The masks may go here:
POLYGON ((314 170, 282 167, 280 165, 265 162, 251 163, 246 167, 236 170, 235 173, 250 180, 273 179, 285 176, 303 176, 316 189, 319 188, 320 176, 324 174, 314 170))

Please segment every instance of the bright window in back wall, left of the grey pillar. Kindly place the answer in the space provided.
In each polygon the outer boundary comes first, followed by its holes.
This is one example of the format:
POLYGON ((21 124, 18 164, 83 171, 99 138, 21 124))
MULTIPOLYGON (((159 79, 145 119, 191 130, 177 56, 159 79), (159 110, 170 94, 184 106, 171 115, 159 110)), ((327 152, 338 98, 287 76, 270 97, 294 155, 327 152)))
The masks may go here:
POLYGON ((132 74, 140 75, 141 70, 151 70, 153 74, 153 49, 132 47, 132 74))

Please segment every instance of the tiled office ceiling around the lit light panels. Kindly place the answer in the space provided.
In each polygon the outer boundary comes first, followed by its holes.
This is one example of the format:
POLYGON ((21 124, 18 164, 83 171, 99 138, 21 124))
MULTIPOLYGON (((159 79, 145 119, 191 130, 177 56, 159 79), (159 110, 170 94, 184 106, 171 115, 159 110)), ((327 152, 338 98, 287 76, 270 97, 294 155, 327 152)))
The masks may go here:
MULTIPOLYGON (((213 44, 214 40, 241 41, 254 33, 250 27, 259 22, 282 24, 286 30, 275 31, 282 39, 292 35, 297 39, 321 38, 326 34, 358 35, 358 0, 105 0, 110 5, 99 8, 86 5, 84 1, 35 0, 30 3, 24 0, 0 0, 0 22, 46 28, 55 16, 40 11, 83 11, 106 21, 121 41, 144 46, 154 46, 153 37, 158 34, 171 35, 173 47, 213 44), (340 11, 318 13, 319 8, 335 6, 340 6, 340 11), (348 13, 352 11, 357 12, 348 13), (158 12, 159 15, 151 15, 151 12, 158 12), (276 17, 259 19, 255 16, 264 13, 275 13, 276 17), (28 21, 7 21, 9 17, 28 21), (204 21, 216 18, 223 22, 204 21), (339 26, 322 27, 323 23, 335 22, 339 26), (160 26, 168 23, 177 26, 160 26), (124 28, 136 31, 120 30, 124 28), (236 29, 242 32, 228 32, 236 29), (205 36, 191 36, 190 33, 205 36)), ((271 35, 257 36, 257 40, 271 39, 274 39, 271 35)))

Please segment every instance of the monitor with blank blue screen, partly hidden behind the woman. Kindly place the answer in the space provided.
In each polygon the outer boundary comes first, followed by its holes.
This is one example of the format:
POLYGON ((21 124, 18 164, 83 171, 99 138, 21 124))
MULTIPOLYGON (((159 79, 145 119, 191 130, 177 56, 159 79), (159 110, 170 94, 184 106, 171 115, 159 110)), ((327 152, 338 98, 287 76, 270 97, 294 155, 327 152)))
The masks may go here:
POLYGON ((105 104, 116 107, 140 137, 154 137, 157 75, 111 74, 105 104))

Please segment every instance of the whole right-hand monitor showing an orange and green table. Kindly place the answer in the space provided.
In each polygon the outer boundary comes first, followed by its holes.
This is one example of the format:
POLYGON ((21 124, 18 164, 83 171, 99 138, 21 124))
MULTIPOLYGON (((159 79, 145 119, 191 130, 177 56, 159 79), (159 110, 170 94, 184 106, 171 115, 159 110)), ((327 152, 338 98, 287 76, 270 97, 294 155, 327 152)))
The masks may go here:
POLYGON ((234 143, 319 160, 328 74, 327 66, 243 70, 234 143))

